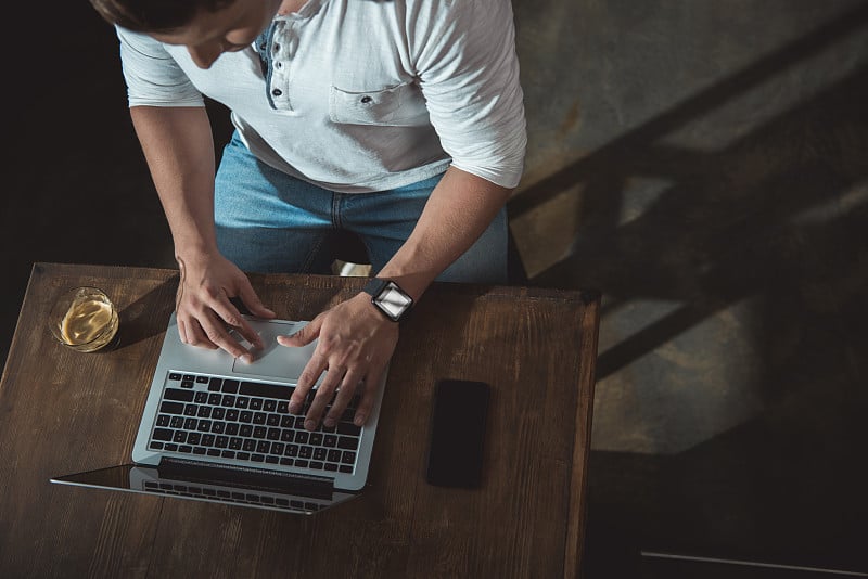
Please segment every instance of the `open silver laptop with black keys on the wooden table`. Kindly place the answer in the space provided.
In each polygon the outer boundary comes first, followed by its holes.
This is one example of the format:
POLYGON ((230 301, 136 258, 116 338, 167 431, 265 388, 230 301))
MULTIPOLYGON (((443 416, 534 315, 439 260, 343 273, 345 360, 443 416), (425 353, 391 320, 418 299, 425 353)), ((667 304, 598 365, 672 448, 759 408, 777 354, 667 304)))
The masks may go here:
POLYGON ((353 424, 357 394, 335 426, 307 432, 304 417, 322 377, 297 415, 289 400, 316 342, 288 348, 276 338, 308 322, 245 319, 265 345, 252 363, 183 344, 173 312, 130 463, 51 481, 308 515, 357 497, 388 369, 363 426, 353 424))

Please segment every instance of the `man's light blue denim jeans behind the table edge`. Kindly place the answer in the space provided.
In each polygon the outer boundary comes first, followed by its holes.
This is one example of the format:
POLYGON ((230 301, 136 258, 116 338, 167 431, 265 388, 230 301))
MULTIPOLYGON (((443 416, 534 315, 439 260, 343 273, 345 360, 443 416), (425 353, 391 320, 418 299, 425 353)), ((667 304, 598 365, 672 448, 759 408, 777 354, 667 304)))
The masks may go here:
MULTIPOLYGON (((375 193, 335 193, 259 162, 233 136, 215 183, 220 253, 248 272, 331 273, 339 230, 359 235, 374 273, 416 227, 443 176, 375 193)), ((476 243, 438 278, 507 283, 506 207, 476 243)))

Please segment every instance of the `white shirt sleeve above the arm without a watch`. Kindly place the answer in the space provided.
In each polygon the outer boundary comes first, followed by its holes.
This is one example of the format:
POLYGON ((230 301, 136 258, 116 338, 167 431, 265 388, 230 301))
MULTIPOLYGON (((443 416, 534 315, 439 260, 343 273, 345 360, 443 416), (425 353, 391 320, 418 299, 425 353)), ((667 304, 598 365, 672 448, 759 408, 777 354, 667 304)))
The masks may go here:
POLYGON ((115 26, 129 106, 205 106, 202 93, 162 42, 115 26))

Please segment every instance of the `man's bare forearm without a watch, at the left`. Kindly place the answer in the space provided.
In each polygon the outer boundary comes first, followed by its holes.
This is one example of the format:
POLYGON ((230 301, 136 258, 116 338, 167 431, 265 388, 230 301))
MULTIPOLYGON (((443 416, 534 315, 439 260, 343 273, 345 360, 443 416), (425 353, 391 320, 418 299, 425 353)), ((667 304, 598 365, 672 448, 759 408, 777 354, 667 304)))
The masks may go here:
POLYGON ((178 259, 216 252, 214 140, 202 107, 133 106, 130 116, 178 259))

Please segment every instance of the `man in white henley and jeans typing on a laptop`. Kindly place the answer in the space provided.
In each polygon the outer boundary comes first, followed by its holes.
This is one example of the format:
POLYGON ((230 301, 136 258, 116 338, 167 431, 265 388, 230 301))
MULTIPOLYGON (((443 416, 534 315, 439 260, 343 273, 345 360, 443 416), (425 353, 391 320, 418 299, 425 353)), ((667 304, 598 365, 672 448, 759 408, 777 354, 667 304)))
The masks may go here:
POLYGON ((383 311, 362 292, 279 342, 319 338, 290 402, 297 413, 328 371, 306 428, 331 426, 357 388, 363 424, 366 385, 398 339, 395 299, 434 280, 506 281, 526 143, 509 0, 90 1, 120 40, 175 243, 181 339, 251 361, 229 329, 263 345, 230 298, 275 313, 243 271, 324 273, 334 230, 354 231, 383 311), (216 177, 203 94, 235 128, 216 177))

